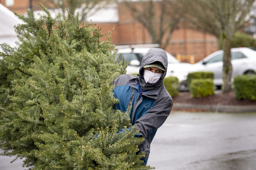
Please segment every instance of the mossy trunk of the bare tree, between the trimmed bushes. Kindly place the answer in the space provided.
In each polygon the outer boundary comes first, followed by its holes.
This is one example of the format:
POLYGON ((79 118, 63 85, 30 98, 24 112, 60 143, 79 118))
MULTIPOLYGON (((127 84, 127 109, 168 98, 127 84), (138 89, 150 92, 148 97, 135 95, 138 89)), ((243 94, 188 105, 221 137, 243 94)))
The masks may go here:
POLYGON ((232 90, 232 64, 231 64, 231 37, 223 38, 223 69, 222 69, 222 91, 229 92, 232 90))

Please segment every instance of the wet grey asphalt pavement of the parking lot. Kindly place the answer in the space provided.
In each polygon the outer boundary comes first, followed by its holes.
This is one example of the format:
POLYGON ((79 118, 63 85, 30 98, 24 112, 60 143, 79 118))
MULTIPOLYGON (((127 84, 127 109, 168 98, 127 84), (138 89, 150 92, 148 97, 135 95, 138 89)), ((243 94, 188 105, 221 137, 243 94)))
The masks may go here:
MULTIPOLYGON (((156 170, 256 170, 256 113, 171 112, 151 143, 156 170)), ((23 170, 0 157, 0 170, 23 170)))

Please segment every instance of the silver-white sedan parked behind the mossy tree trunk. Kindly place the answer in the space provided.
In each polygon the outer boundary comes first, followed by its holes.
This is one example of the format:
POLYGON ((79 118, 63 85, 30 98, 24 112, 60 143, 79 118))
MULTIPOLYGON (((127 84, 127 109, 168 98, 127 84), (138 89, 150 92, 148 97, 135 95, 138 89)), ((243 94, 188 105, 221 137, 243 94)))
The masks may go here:
MULTIPOLYGON (((232 81, 237 75, 256 73, 256 51, 246 48, 232 48, 232 81)), ((214 84, 222 85, 223 50, 216 51, 195 63, 196 71, 214 72, 214 84)))

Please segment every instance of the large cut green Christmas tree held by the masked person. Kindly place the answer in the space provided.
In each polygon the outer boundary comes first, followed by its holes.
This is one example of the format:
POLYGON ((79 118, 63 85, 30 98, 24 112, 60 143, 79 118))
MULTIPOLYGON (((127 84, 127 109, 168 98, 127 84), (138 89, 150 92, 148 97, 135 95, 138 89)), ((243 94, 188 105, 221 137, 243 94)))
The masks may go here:
POLYGON ((112 82, 126 72, 101 29, 59 14, 15 15, 17 47, 1 44, 0 147, 29 169, 152 169, 130 127, 130 109, 113 110, 112 82), (124 129, 123 132, 118 131, 124 129))

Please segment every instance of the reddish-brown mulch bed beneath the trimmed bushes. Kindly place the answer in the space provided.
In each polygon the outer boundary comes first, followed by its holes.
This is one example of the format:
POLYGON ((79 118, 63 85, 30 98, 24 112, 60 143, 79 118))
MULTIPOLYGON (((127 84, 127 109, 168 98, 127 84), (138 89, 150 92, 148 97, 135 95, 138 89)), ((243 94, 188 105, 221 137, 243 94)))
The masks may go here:
POLYGON ((192 98, 190 92, 180 92, 173 97, 173 103, 200 105, 256 105, 256 101, 235 98, 234 92, 218 93, 204 98, 192 98))

